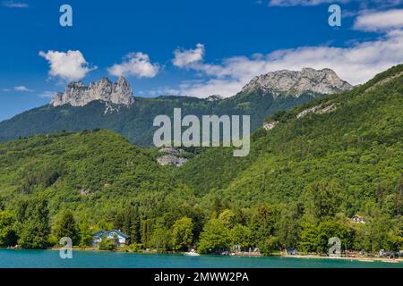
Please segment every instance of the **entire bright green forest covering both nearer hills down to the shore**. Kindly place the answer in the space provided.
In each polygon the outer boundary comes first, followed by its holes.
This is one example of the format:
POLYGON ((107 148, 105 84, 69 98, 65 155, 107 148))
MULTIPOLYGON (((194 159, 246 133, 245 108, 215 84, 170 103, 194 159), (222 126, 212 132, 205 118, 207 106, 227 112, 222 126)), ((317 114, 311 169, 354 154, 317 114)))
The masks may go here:
POLYGON ((90 233, 116 228, 136 251, 238 245, 324 254, 331 237, 343 249, 399 250, 402 71, 270 115, 266 122, 278 124, 253 133, 246 157, 206 148, 181 168, 162 167, 152 150, 108 130, 2 143, 0 245, 45 248, 69 236, 88 246, 90 233), (352 222, 355 214, 365 223, 352 222))

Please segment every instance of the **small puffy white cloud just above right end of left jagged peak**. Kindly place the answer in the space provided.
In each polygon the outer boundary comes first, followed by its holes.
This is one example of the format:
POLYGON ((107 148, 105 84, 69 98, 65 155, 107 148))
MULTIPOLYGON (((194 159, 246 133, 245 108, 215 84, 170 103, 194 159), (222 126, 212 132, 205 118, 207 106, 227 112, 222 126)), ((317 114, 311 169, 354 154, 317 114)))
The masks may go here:
POLYGON ((150 56, 143 53, 131 53, 124 57, 123 63, 108 68, 115 76, 134 76, 137 78, 154 78, 159 73, 159 64, 150 63, 150 56))

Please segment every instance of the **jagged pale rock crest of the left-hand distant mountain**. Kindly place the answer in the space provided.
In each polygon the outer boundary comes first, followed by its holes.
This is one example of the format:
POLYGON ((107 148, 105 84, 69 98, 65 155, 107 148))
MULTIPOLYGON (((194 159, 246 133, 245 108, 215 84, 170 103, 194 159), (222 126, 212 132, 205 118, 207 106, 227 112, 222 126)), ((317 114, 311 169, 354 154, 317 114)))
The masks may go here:
POLYGON ((82 81, 72 82, 64 93, 56 93, 50 105, 73 105, 84 106, 91 101, 102 100, 116 105, 132 105, 134 103, 133 91, 124 77, 114 83, 107 78, 97 82, 91 82, 90 86, 85 86, 82 81))

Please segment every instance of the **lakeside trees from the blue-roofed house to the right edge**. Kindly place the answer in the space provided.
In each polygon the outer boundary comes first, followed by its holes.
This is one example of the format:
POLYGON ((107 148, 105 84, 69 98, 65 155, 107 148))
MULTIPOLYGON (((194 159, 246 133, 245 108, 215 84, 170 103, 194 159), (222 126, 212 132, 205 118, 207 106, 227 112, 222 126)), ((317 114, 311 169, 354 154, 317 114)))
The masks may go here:
POLYGON ((334 182, 320 181, 311 184, 304 198, 294 203, 247 208, 218 195, 210 199, 207 210, 194 206, 185 210, 188 216, 183 217, 172 211, 147 218, 137 206, 129 206, 116 214, 113 226, 130 234, 135 249, 161 251, 195 247, 201 253, 219 253, 236 247, 242 251, 259 248, 263 255, 271 255, 296 248, 326 254, 333 237, 341 240, 344 250, 375 254, 381 249, 403 248, 403 184, 393 206, 369 202, 362 213, 364 223, 354 223, 340 212, 339 188, 334 182))

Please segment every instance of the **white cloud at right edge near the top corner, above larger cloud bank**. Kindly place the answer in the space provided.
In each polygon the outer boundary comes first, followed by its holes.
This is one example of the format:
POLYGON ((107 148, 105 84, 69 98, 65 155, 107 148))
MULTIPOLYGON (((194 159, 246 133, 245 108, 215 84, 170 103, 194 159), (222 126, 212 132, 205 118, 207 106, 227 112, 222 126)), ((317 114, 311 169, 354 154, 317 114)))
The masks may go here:
POLYGON ((355 29, 382 31, 403 27, 403 9, 364 13, 356 18, 355 29))

